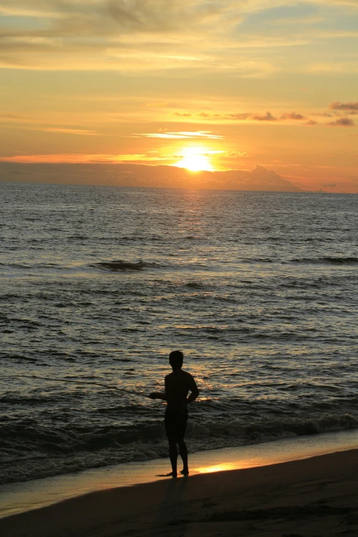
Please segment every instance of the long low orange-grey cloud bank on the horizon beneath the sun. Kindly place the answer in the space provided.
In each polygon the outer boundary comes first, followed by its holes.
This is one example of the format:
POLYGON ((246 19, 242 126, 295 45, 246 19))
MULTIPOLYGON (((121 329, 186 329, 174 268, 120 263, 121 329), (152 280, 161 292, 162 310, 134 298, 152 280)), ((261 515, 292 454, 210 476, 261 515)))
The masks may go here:
POLYGON ((103 184, 126 187, 198 188, 254 191, 300 191, 272 169, 199 171, 167 165, 132 163, 32 163, 22 164, 21 174, 14 175, 19 164, 0 162, 0 180, 49 182, 60 184, 103 184), (22 172, 25 172, 22 175, 22 172))

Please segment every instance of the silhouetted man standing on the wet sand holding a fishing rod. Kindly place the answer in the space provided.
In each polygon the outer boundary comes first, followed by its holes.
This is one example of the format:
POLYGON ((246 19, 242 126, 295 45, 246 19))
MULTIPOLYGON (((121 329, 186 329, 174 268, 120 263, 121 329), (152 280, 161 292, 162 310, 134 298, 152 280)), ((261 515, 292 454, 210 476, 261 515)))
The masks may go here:
POLYGON ((199 395, 195 380, 187 371, 182 370, 183 354, 180 350, 173 350, 169 355, 169 363, 173 372, 165 377, 165 392, 152 392, 150 398, 163 399, 167 401, 165 409, 165 432, 169 442, 169 458, 171 462, 171 472, 167 474, 171 477, 177 476, 177 459, 179 446, 180 457, 182 457, 182 475, 189 475, 188 450, 184 442, 185 429, 187 429, 188 411, 187 404, 192 403, 199 395), (188 397, 188 393, 191 394, 188 397))

